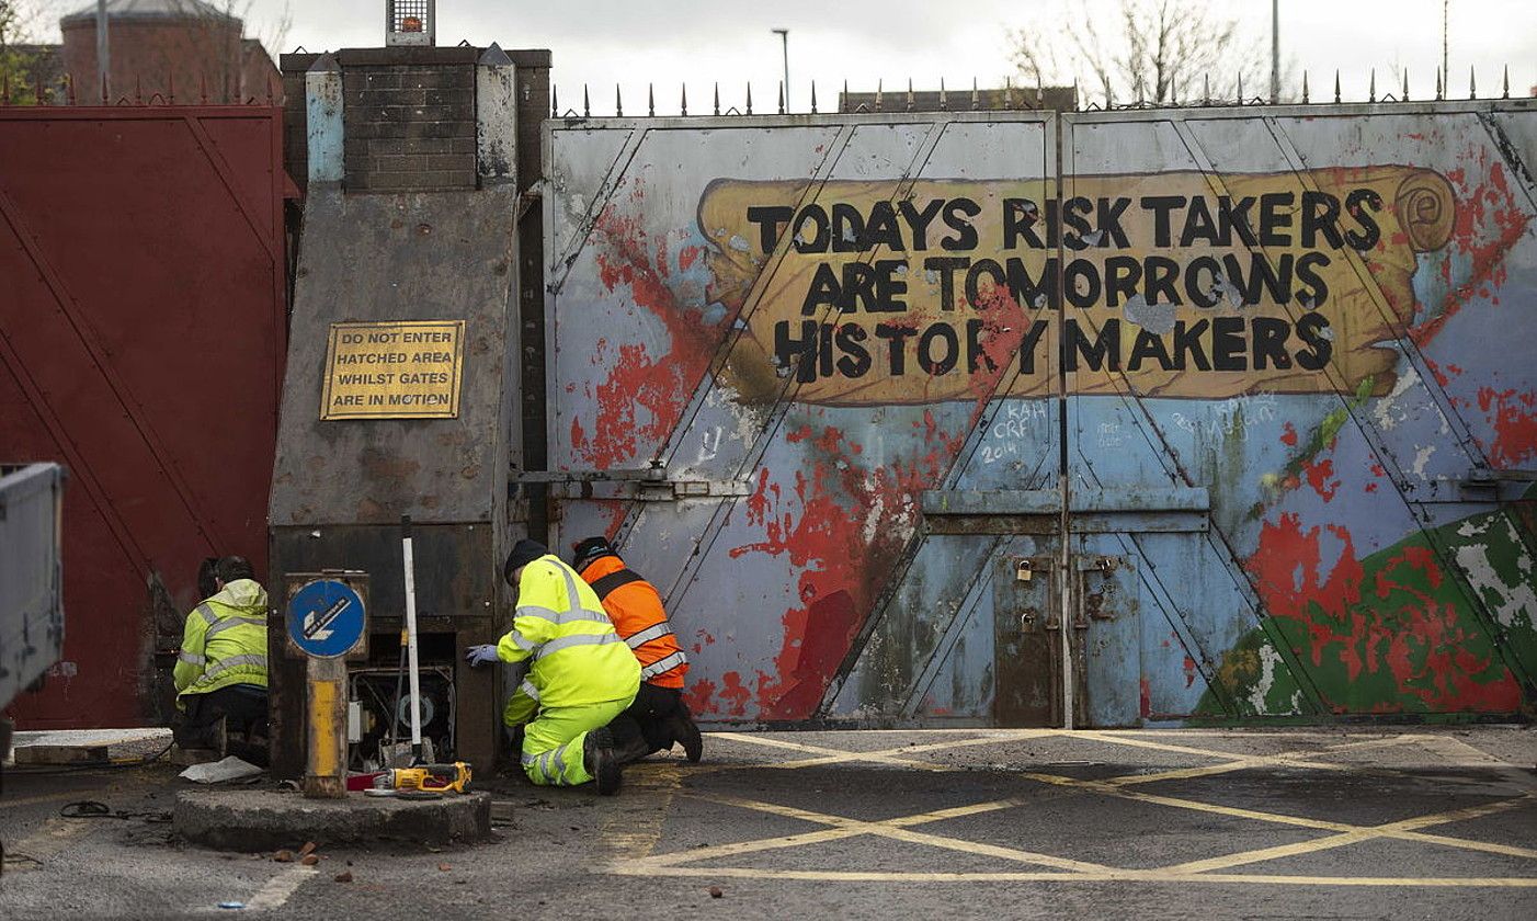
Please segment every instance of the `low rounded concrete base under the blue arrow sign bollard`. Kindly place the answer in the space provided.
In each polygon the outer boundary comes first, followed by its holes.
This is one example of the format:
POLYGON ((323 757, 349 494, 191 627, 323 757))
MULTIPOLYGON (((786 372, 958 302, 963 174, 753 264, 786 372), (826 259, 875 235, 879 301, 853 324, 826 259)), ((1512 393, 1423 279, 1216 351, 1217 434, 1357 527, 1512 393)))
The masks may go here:
POLYGON ((490 836, 490 793, 304 800, 287 790, 189 790, 177 795, 171 823, 188 841, 221 850, 297 849, 306 841, 473 843, 490 836))

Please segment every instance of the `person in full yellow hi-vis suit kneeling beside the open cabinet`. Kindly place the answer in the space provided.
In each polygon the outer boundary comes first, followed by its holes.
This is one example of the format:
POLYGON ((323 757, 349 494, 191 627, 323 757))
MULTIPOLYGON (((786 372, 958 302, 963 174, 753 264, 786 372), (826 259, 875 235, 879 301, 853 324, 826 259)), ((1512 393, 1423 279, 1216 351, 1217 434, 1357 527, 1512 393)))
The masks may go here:
POLYGON ((544 544, 518 541, 503 577, 518 589, 512 630, 466 658, 472 666, 532 660, 503 712, 509 727, 527 723, 523 770, 541 786, 592 780, 599 793, 616 793, 619 760, 604 727, 635 700, 639 663, 587 583, 544 544))

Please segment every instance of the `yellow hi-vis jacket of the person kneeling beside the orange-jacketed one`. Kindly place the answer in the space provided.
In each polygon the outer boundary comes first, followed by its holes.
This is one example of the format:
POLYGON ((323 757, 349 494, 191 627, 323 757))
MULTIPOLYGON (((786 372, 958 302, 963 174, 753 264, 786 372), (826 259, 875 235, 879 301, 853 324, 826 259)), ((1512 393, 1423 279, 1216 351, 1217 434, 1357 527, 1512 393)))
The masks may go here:
POLYGON ((641 666, 613 632, 592 589, 546 554, 523 569, 512 630, 496 644, 503 661, 532 660, 503 718, 526 721, 536 707, 581 707, 633 700, 641 666))

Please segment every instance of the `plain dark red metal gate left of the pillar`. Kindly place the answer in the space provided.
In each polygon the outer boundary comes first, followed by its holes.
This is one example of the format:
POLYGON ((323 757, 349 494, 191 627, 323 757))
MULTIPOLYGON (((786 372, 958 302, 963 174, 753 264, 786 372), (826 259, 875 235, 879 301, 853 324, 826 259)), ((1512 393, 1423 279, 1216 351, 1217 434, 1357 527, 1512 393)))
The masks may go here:
POLYGON ((0 458, 72 477, 65 660, 12 715, 137 724, 198 560, 266 566, 281 109, 0 108, 0 458))

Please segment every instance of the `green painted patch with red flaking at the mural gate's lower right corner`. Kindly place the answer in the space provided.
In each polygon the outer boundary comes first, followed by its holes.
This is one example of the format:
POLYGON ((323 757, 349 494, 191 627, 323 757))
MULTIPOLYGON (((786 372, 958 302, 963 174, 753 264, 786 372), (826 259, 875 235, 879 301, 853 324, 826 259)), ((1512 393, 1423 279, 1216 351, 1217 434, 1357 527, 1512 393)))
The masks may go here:
POLYGON ((1529 689, 1537 673, 1531 543, 1514 514, 1494 510, 1419 532, 1359 561, 1342 557, 1319 586, 1331 597, 1308 600, 1302 617, 1270 612, 1268 629, 1250 630, 1223 653, 1216 680, 1225 695, 1208 689, 1197 718, 1306 710, 1297 677, 1271 635, 1291 647, 1336 713, 1520 712, 1523 686, 1529 689), (1220 697, 1237 712, 1228 712, 1220 697))

